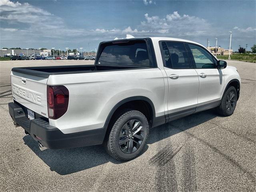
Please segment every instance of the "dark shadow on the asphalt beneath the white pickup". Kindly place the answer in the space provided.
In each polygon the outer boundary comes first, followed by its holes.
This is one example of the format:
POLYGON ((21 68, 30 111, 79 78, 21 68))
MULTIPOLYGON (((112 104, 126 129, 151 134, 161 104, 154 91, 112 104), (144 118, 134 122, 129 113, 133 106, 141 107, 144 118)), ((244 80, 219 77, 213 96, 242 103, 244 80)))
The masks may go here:
MULTIPOLYGON (((178 134, 184 130, 190 129, 194 126, 202 124, 217 115, 214 110, 208 110, 193 114, 178 120, 172 121, 172 125, 179 125, 182 123, 184 126, 182 130, 173 129, 168 124, 152 128, 148 137, 147 144, 153 144, 172 135, 178 134)), ((44 161, 51 171, 55 171, 60 175, 67 175, 82 170, 86 170, 95 166, 112 162, 114 164, 120 164, 113 158, 111 158, 102 145, 88 146, 64 150, 45 150, 41 152, 38 148, 38 143, 33 140, 29 135, 24 136, 24 144, 26 144, 40 159, 44 161)), ((142 152, 142 155, 148 149, 146 145, 142 152)))

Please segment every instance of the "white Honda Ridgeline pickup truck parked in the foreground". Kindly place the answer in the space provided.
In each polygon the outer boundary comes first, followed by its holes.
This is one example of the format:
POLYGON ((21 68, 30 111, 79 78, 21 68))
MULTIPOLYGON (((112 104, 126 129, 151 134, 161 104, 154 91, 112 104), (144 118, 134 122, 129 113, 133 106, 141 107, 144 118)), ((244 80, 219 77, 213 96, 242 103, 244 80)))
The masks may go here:
POLYGON ((188 40, 102 42, 94 65, 12 68, 9 113, 41 150, 103 144, 131 160, 150 127, 210 108, 232 115, 240 76, 226 65, 188 40))

